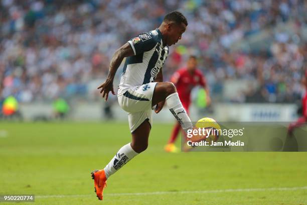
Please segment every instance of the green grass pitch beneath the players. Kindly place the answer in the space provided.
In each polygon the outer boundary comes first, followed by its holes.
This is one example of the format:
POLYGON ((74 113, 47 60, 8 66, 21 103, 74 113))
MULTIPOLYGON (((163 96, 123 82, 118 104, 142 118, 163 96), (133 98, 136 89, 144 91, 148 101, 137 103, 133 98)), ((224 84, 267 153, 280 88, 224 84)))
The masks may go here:
POLYGON ((127 123, 2 122, 0 194, 35 194, 35 204, 307 204, 307 152, 165 153, 171 128, 154 122, 148 149, 99 201, 90 172, 130 141, 127 123))

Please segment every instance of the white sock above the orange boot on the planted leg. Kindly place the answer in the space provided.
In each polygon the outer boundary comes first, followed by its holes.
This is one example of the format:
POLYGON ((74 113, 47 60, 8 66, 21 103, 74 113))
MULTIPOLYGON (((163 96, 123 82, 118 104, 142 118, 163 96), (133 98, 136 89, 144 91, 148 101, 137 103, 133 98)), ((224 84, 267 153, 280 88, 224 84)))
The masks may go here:
POLYGON ((109 178, 109 176, 114 174, 137 154, 138 153, 132 149, 130 143, 122 146, 113 159, 104 167, 105 176, 109 178))

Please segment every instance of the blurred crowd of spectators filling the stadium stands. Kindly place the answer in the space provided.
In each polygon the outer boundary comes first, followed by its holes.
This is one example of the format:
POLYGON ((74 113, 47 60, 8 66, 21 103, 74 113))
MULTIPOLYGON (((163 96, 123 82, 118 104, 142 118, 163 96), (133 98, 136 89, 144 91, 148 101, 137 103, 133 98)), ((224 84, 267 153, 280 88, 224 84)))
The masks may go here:
POLYGON ((115 50, 158 28, 174 10, 186 15, 189 26, 171 48, 165 80, 193 54, 213 99, 293 102, 301 96, 307 69, 307 44, 297 32, 307 23, 303 0, 0 0, 0 96, 14 95, 21 102, 87 97, 96 92, 91 82, 106 77, 115 50), (274 30, 289 22, 292 32, 274 30), (263 32, 271 32, 264 49, 235 49, 263 32), (227 82, 242 80, 250 84, 223 97, 227 82))

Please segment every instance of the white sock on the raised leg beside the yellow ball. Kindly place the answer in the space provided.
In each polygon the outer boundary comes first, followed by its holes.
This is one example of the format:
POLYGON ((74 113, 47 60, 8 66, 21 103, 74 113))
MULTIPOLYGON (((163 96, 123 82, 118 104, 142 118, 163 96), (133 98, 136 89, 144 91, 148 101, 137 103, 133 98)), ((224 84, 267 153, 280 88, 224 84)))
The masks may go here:
POLYGON ((170 109, 171 113, 174 115, 176 120, 181 125, 182 129, 187 133, 189 129, 193 129, 192 122, 183 108, 181 101, 179 99, 178 93, 172 93, 166 98, 166 102, 168 108, 170 109))

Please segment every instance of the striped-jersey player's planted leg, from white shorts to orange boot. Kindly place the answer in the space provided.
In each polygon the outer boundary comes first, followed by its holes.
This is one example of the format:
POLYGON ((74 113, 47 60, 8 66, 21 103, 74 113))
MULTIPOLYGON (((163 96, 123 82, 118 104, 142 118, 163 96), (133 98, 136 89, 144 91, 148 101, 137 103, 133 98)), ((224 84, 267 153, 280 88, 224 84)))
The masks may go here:
POLYGON ((118 96, 119 105, 128 112, 132 142, 121 147, 102 170, 92 172, 97 197, 102 200, 106 180, 148 145, 152 124, 151 97, 155 84, 129 89, 127 94, 118 96))

